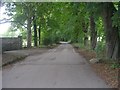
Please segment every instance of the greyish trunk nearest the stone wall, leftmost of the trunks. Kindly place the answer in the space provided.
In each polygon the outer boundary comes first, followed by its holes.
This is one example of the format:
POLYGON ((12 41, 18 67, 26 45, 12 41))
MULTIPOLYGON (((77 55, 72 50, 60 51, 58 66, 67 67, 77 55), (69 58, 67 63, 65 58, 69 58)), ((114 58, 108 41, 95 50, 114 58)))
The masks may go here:
POLYGON ((31 17, 27 19, 27 47, 31 47, 31 17))

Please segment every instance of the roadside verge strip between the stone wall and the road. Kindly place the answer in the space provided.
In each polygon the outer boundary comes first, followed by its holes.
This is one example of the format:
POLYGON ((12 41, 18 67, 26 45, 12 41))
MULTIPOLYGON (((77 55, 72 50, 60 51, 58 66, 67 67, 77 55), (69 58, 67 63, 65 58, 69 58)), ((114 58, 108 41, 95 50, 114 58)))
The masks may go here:
MULTIPOLYGON (((23 48, 22 50, 18 50, 16 53, 6 53, 2 54, 2 66, 7 66, 10 64, 14 64, 20 61, 23 61, 26 57, 34 54, 42 54, 45 51, 57 47, 59 44, 53 44, 50 46, 41 45, 39 47, 31 47, 31 48, 23 48), (19 52, 24 52, 19 54, 19 52), (18 54, 17 54, 18 53, 18 54)), ((2 67, 1 66, 1 67, 2 67)))

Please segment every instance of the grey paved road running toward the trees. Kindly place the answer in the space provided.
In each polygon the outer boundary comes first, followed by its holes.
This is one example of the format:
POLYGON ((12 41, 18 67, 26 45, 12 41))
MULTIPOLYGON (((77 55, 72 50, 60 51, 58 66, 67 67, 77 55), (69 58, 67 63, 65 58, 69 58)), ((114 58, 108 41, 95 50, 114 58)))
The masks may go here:
POLYGON ((70 44, 3 69, 3 88, 108 88, 70 44))

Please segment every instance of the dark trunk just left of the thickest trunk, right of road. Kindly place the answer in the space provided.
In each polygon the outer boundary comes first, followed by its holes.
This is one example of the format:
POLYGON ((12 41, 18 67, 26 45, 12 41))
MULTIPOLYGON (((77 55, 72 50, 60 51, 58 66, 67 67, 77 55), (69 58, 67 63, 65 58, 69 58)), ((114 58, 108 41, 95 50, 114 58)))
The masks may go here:
POLYGON ((90 16, 90 34, 91 34, 91 48, 94 50, 97 43, 97 31, 95 30, 95 22, 93 15, 90 16))

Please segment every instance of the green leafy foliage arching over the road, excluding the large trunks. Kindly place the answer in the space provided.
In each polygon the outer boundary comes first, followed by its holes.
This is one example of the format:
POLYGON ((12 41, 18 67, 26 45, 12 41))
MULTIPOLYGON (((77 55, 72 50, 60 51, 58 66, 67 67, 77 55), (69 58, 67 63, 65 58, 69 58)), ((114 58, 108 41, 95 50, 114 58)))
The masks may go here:
MULTIPOLYGON (((79 43, 84 46, 84 38, 90 42, 90 16, 95 19, 95 30, 97 32, 97 45, 95 51, 98 57, 105 57, 105 24, 103 23, 102 12, 108 3, 43 3, 43 2, 15 2, 6 3, 6 14, 12 18, 12 29, 20 30, 24 40, 27 40, 28 27, 27 19, 31 20, 32 40, 34 37, 33 16, 35 16, 37 32, 41 27, 41 44, 52 45, 60 40, 79 43)), ((116 11, 112 17, 113 26, 119 28, 120 32, 120 2, 114 3, 116 11)), ((14 32, 15 32, 14 31, 14 32)), ((33 42, 33 41, 32 41, 33 42)))

